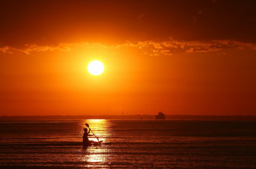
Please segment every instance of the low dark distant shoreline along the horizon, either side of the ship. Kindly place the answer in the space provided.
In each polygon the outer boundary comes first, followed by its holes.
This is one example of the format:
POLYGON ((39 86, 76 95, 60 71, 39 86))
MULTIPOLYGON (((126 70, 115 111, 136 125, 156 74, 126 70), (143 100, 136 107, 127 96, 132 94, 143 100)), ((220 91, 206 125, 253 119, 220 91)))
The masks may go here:
MULTIPOLYGON (((143 119, 155 120, 155 115, 137 114, 137 115, 102 115, 102 116, 3 116, 0 121, 20 121, 20 120, 85 120, 85 119, 143 119)), ((256 121, 256 116, 203 116, 203 115, 166 115, 166 120, 204 120, 204 121, 256 121)))

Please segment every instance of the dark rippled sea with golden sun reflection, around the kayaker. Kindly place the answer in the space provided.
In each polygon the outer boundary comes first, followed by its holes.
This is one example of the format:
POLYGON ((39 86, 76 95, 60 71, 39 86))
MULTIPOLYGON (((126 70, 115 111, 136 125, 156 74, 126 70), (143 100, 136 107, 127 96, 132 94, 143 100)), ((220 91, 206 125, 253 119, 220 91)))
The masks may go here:
POLYGON ((0 129, 1 168, 256 168, 255 121, 18 121, 0 129), (84 123, 112 144, 83 147, 84 123))

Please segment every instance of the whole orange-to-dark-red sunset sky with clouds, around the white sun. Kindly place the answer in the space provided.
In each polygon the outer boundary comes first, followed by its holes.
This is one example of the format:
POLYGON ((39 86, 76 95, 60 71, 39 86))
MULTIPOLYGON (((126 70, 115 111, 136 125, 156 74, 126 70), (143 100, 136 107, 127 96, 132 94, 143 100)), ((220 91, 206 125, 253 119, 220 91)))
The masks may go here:
POLYGON ((0 1, 0 112, 256 115, 255 7, 0 1), (103 74, 88 73, 92 60, 103 74))

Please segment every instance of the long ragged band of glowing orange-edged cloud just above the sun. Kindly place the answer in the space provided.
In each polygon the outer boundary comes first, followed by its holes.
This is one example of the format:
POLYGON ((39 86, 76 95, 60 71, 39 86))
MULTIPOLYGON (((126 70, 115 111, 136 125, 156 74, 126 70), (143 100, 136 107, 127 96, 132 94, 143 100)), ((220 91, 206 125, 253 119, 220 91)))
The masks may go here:
POLYGON ((142 53, 150 56, 173 55, 175 52, 193 53, 193 52, 213 52, 222 49, 235 48, 235 49, 252 49, 256 50, 256 44, 245 43, 236 40, 211 40, 211 41, 179 41, 170 38, 167 41, 127 41, 124 44, 106 45, 101 43, 63 43, 57 46, 40 46, 40 45, 25 45, 24 48, 14 48, 11 46, 5 46, 0 48, 3 53, 12 54, 14 51, 20 51, 26 54, 31 52, 44 52, 44 51, 61 51, 70 52, 72 48, 106 48, 106 49, 118 49, 118 48, 137 48, 142 50, 142 53))

